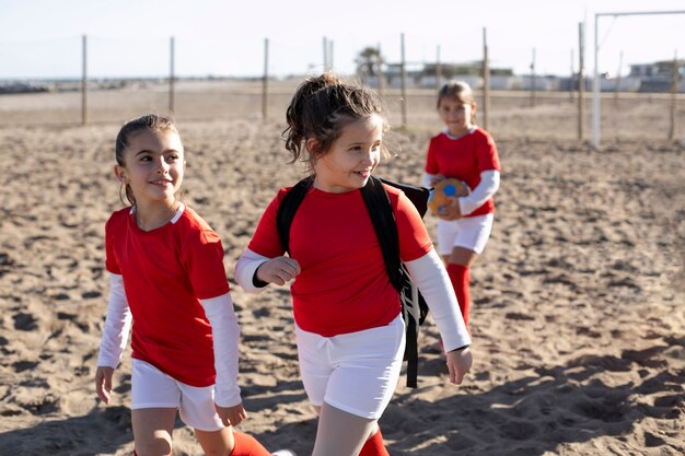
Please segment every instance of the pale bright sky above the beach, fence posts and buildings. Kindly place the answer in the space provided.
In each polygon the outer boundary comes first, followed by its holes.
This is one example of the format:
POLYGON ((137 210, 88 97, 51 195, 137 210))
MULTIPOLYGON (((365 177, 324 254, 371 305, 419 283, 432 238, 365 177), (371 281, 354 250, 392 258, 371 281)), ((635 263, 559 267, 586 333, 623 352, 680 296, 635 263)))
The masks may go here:
POLYGON ((333 68, 355 72, 369 46, 388 62, 411 66, 471 62, 515 74, 594 71, 596 13, 602 15, 600 72, 625 75, 629 66, 685 58, 683 0, 0 0, 0 79, 80 78, 86 36, 89 78, 166 77, 174 40, 176 77, 259 77, 268 39, 275 77, 333 68))

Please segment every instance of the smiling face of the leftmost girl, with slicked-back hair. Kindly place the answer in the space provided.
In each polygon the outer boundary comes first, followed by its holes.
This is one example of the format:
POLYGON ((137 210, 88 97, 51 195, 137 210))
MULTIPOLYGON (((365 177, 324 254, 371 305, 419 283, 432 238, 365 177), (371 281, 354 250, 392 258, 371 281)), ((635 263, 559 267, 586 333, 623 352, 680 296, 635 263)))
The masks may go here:
POLYGON ((161 202, 171 207, 181 189, 185 165, 176 131, 143 130, 130 138, 124 152, 124 166, 115 166, 114 173, 131 187, 136 204, 161 202))

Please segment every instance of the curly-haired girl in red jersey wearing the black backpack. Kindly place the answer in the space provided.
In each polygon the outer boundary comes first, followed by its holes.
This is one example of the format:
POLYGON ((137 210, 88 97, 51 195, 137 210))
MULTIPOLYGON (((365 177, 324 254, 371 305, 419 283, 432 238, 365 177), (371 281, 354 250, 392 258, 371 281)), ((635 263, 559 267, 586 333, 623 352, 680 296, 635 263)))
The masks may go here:
MULTIPOLYGON (((378 420, 399 378, 405 346, 399 296, 392 285, 360 188, 379 165, 387 122, 379 98, 324 73, 303 82, 287 112, 286 148, 313 184, 290 229, 290 257, 276 215, 289 188, 262 215, 236 264, 246 291, 291 287, 300 371, 320 413, 313 456, 387 455, 378 420)), ((471 338, 444 266, 414 204, 385 187, 402 261, 431 307, 450 381, 472 364, 471 338)))

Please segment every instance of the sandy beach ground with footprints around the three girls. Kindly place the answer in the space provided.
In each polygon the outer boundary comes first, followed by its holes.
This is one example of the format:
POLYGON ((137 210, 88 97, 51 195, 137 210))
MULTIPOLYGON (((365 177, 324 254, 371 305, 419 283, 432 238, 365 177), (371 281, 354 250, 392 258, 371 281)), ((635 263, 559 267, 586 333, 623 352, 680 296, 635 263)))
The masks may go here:
MULTIPOLYGON (((164 105, 103 104, 80 126, 78 97, 67 95, 0 101, 0 455, 132 451, 128 351, 113 404, 94 390, 108 293, 103 232, 120 207, 118 126, 164 105)), ((147 96, 129 95, 93 98, 147 96)), ((263 121, 258 95, 228 114, 207 107, 212 96, 178 97, 184 200, 225 247, 249 413, 240 428, 271 451, 307 455, 316 418, 299 378, 288 290, 247 295, 233 279, 262 210, 301 176, 280 139, 285 98, 263 121)), ((396 129, 398 156, 379 175, 419 182, 440 128, 426 100, 396 129)), ((403 376, 381 419, 393 456, 685 453, 683 147, 665 140, 667 113, 651 97, 604 104, 600 150, 576 140, 573 104, 541 100, 494 102, 503 172, 492 236, 472 272, 474 366, 450 385, 434 325, 421 329, 419 388, 403 376)), ((396 97, 388 105, 397 126, 396 97)), ((434 234, 434 219, 426 223, 434 234)), ((175 455, 201 454, 182 422, 174 444, 175 455)))

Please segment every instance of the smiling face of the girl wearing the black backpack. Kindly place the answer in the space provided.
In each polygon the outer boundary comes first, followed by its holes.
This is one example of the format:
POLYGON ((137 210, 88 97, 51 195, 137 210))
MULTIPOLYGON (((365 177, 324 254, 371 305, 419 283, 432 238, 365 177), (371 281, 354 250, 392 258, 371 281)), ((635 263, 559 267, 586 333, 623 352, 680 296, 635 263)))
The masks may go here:
MULTIPOLYGON (((332 194, 355 190, 367 185, 381 161, 383 120, 373 115, 342 128, 340 137, 314 163, 314 187, 332 194)), ((312 150, 310 139, 307 148, 312 150)))

